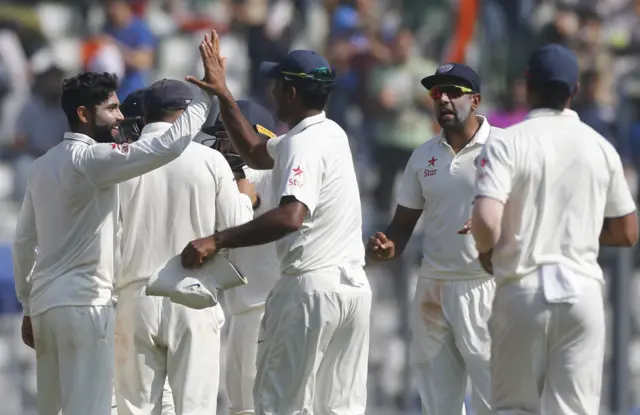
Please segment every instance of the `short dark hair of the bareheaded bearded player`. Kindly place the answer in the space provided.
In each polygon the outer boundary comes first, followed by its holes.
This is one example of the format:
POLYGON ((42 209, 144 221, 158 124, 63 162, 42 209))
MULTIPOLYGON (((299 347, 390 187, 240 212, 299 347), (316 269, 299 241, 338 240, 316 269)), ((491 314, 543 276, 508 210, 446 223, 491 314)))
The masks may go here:
POLYGON ((69 125, 75 127, 80 123, 78 107, 93 110, 109 99, 118 88, 118 77, 107 72, 84 72, 62 82, 62 109, 69 125))

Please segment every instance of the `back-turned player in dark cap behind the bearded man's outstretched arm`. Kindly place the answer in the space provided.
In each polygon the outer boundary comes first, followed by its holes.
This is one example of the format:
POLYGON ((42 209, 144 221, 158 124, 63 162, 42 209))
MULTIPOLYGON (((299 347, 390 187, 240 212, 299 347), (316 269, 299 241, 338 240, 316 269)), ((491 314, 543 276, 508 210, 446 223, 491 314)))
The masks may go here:
MULTIPOLYGON (((162 135, 193 99, 188 84, 161 80, 144 91, 138 142, 162 135)), ((246 179, 225 158, 191 143, 172 163, 118 186, 121 267, 116 279, 116 401, 119 415, 160 414, 168 380, 176 415, 215 414, 220 305, 196 310, 145 294, 149 278, 190 240, 253 217, 246 179), (246 200, 245 200, 246 199, 246 200)))

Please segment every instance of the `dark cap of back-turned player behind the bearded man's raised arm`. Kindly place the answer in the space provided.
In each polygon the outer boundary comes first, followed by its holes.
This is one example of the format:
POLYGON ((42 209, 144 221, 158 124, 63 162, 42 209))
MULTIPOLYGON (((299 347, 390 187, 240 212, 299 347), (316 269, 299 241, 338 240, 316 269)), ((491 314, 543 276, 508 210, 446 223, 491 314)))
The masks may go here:
POLYGON ((145 89, 142 106, 145 113, 183 110, 193 100, 193 90, 184 82, 162 79, 145 89))

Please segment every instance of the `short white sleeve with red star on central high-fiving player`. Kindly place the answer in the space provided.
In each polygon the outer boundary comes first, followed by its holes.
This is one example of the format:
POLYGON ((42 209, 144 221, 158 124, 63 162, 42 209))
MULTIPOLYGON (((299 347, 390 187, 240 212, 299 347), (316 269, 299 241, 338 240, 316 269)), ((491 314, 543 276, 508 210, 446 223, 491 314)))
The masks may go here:
POLYGON ((320 198, 324 163, 322 151, 304 141, 292 137, 281 143, 278 164, 282 176, 275 202, 278 204, 283 197, 292 196, 313 214, 320 198))

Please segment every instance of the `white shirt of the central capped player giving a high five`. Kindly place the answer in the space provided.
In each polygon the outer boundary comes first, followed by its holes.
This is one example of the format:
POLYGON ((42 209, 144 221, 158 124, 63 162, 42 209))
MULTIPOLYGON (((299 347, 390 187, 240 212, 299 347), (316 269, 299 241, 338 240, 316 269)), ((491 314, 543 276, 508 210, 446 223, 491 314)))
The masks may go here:
POLYGON ((308 209, 302 228, 276 241, 281 274, 363 266, 360 192, 344 130, 322 112, 270 139, 267 150, 276 204, 293 196, 308 209))

